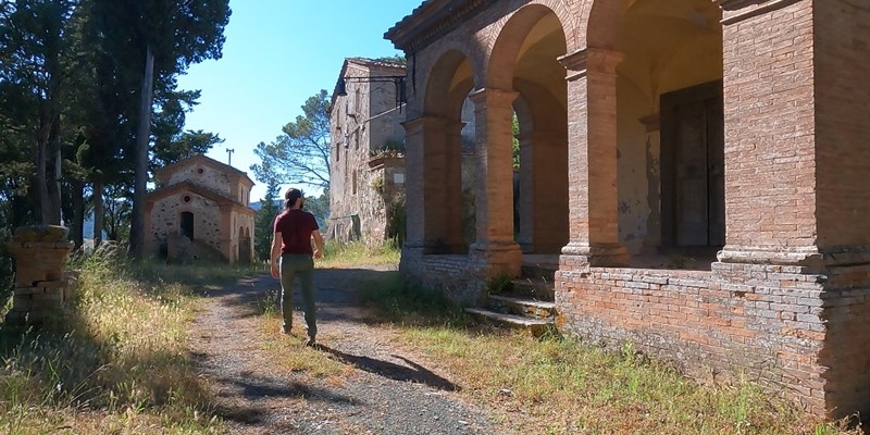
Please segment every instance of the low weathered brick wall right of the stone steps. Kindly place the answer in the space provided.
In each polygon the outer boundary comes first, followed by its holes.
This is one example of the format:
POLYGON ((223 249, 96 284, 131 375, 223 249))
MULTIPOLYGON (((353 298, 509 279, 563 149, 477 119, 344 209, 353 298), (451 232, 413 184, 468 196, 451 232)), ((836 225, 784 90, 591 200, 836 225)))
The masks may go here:
POLYGON ((703 381, 743 373, 809 412, 843 417, 870 398, 870 347, 858 333, 868 290, 828 289, 828 274, 721 262, 709 272, 563 266, 556 301, 562 330, 583 340, 631 341, 703 381))

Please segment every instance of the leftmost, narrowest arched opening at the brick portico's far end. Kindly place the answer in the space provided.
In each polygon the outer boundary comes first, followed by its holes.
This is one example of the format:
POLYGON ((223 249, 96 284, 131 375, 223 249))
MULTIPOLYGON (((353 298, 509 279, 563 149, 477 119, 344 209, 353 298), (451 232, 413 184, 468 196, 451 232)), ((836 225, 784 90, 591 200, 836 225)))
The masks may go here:
POLYGON ((474 86, 469 59, 448 51, 436 62, 425 94, 423 195, 425 253, 468 253, 474 240, 474 86))

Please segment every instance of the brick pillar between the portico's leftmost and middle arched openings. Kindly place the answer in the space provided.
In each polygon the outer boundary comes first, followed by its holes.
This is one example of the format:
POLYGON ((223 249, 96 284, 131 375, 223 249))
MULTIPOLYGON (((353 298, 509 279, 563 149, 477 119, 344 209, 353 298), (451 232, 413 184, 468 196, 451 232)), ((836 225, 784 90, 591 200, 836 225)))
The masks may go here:
POLYGON ((470 253, 490 273, 519 275, 520 246, 513 239, 513 100, 517 92, 480 89, 474 103, 477 145, 477 239, 470 253))

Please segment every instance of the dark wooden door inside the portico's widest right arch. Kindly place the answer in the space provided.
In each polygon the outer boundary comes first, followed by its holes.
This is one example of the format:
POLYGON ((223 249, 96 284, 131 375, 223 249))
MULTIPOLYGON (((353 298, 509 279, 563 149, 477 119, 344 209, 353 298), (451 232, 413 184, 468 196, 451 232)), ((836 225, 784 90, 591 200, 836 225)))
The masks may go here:
POLYGON ((666 248, 725 243, 722 82, 661 96, 661 239, 666 248))

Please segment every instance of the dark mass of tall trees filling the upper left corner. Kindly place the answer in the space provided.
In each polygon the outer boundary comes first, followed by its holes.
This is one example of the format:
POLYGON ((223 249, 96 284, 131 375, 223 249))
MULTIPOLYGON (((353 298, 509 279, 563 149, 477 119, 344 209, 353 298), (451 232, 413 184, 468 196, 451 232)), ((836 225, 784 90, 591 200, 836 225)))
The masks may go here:
POLYGON ((184 129, 199 91, 176 77, 221 57, 229 15, 228 0, 0 1, 0 229, 62 220, 80 243, 92 210, 125 237, 137 136, 153 165, 222 141, 184 129))

